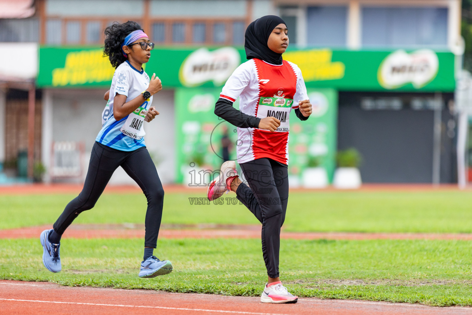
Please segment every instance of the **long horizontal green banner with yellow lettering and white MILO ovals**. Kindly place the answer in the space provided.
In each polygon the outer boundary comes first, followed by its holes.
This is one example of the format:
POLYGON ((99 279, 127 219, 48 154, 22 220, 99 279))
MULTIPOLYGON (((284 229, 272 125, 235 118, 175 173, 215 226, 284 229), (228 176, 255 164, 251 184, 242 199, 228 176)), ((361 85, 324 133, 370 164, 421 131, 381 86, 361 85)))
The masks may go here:
MULTIPOLYGON (((454 54, 447 51, 347 51, 292 49, 284 59, 297 64, 306 86, 343 91, 453 92, 454 54)), ((159 48, 151 52, 146 72, 164 88, 221 87, 246 61, 244 50, 159 48)), ((108 87, 114 68, 100 48, 40 47, 40 87, 108 87)))

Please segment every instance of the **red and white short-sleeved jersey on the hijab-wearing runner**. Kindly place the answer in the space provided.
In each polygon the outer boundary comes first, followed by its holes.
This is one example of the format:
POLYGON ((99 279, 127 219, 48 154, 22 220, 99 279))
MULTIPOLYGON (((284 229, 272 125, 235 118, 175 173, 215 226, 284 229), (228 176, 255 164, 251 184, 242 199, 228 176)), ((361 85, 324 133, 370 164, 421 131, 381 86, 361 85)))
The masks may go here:
POLYGON ((219 97, 235 102, 239 109, 258 118, 280 120, 276 131, 259 128, 237 128, 237 161, 249 162, 260 158, 288 164, 289 117, 298 102, 307 100, 302 71, 294 63, 283 60, 272 65, 260 59, 244 62, 229 77, 219 97))

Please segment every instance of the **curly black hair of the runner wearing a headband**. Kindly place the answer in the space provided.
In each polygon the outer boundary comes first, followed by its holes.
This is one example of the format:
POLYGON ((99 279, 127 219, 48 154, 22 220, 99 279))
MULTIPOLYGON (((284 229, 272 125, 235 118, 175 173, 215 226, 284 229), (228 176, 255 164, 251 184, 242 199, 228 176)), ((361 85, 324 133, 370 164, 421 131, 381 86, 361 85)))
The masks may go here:
POLYGON ((112 25, 105 28, 103 56, 110 58, 110 63, 115 69, 126 60, 126 57, 123 56, 123 52, 121 52, 121 44, 128 34, 136 30, 143 31, 141 26, 135 21, 128 21, 123 24, 114 22, 112 25))

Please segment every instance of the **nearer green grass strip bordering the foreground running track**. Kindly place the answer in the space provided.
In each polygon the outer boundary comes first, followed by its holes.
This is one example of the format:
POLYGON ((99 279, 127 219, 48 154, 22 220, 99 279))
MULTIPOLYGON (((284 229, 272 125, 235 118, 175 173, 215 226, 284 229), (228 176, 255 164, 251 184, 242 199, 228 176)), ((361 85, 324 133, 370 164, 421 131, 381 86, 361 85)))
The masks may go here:
MULTIPOLYGON (((282 240, 280 276, 299 297, 472 305, 471 241, 282 240)), ((39 239, 0 239, 0 279, 67 286, 259 296, 267 281, 257 239, 162 239, 174 272, 140 279, 141 239, 64 239, 63 271, 42 265, 39 239)))

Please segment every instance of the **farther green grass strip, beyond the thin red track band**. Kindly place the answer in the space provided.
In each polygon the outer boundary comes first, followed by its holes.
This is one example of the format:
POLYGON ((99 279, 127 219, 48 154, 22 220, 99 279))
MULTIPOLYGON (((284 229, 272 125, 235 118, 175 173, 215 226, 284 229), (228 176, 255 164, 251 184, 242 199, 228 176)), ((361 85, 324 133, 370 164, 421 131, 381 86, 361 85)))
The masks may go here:
MULTIPOLYGON (((0 229, 50 224, 74 195, 0 196, 0 229)), ((163 223, 260 224, 242 204, 190 204, 201 194, 167 193, 163 223)), ((223 195, 233 198, 235 194, 223 195)), ((431 192, 291 193, 286 231, 472 233, 472 194, 431 192)), ((143 194, 105 194, 74 223, 144 223, 143 194)))

